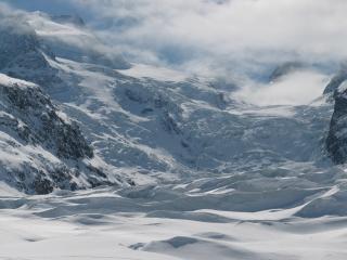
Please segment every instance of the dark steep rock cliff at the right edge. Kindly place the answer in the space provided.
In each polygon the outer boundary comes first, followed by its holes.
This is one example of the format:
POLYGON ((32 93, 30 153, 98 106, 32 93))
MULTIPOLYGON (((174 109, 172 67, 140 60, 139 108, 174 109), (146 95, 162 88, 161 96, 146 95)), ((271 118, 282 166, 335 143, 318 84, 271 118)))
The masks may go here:
POLYGON ((347 161, 347 91, 336 92, 326 150, 335 164, 347 161))

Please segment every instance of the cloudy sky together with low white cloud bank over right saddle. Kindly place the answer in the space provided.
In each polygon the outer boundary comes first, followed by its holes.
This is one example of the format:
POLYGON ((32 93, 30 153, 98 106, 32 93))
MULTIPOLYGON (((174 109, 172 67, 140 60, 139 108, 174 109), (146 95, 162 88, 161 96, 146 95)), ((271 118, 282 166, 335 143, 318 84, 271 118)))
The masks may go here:
MULTIPOLYGON (((40 1, 47 0, 35 0, 38 6, 40 1)), ((281 63, 331 68, 347 60, 346 0, 53 2, 87 18, 110 50, 130 62, 242 79, 246 86, 237 94, 253 103, 304 104, 322 91, 321 74, 264 84, 281 63)))

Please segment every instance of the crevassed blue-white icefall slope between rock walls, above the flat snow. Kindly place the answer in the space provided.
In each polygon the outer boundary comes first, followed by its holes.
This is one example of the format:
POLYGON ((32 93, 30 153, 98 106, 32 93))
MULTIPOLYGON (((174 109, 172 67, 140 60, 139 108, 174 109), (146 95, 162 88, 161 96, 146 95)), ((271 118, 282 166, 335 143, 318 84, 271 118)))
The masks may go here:
POLYGON ((50 63, 65 80, 51 95, 66 102, 66 114, 115 167, 204 174, 324 157, 330 104, 275 116, 280 107, 243 105, 201 79, 158 81, 62 58, 50 63))

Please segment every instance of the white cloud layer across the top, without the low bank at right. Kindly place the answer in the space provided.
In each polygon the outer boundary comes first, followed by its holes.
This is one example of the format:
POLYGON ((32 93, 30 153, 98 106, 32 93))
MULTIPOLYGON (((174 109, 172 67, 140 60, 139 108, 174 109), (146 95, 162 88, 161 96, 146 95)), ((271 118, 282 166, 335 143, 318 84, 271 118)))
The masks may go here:
POLYGON ((74 0, 128 56, 188 65, 347 56, 345 0, 74 0), (143 53, 144 55, 141 55, 143 53))

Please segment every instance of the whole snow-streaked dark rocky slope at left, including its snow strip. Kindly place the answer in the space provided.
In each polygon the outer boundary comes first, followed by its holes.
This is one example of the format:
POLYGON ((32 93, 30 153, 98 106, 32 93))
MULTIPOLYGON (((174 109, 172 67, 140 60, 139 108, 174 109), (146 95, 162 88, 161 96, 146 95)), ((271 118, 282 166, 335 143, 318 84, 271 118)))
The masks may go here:
POLYGON ((0 180, 26 193, 107 182, 76 122, 33 83, 0 74, 0 180))

